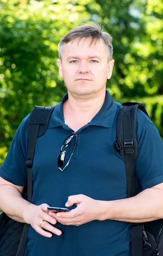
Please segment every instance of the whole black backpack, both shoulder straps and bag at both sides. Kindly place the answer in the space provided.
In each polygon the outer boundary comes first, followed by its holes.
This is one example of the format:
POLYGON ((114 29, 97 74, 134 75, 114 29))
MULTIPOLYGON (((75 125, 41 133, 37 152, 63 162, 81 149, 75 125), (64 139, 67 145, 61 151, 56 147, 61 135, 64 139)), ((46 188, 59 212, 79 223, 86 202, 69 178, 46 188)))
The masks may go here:
MULTIPOLYGON (((26 160, 28 185, 23 190, 22 196, 30 202, 32 198, 34 149, 37 137, 41 137, 46 132, 53 108, 35 106, 28 120, 28 159, 26 160), (42 126, 41 131, 39 131, 40 125, 42 126)), ((128 197, 136 195, 135 159, 138 151, 135 127, 138 108, 147 114, 144 105, 140 103, 127 102, 122 104, 117 119, 117 137, 113 144, 115 150, 125 160, 128 197), (126 130, 128 127, 132 127, 132 130, 126 130)), ((12 220, 4 212, 0 215, 0 256, 24 255, 28 227, 28 224, 12 220)), ((159 253, 162 255, 162 240, 163 220, 132 224, 132 256, 156 256, 159 253)))

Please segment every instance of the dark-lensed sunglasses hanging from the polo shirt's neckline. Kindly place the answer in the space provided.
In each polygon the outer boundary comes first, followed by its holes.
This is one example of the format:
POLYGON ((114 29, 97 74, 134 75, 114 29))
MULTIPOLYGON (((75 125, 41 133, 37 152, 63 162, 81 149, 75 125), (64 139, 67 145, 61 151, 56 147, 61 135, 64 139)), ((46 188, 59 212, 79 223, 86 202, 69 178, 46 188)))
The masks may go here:
MULTIPOLYGON (((74 145, 74 148, 73 148, 73 152, 74 152, 74 151, 75 151, 75 148, 76 148, 77 137, 78 137, 77 134, 73 134, 73 135, 68 136, 67 139, 65 140, 65 143, 62 145, 62 148, 63 148, 63 147, 67 148, 68 144, 71 142, 71 140, 73 139, 73 137, 76 137, 75 145, 74 145)), ((59 156, 58 156, 58 168, 59 168, 59 170, 64 171, 65 168, 66 168, 66 167, 69 165, 69 163, 70 163, 70 159, 71 159, 71 157, 72 157, 72 155, 73 155, 73 152, 72 152, 72 154, 71 154, 71 156, 70 156, 70 158, 69 158, 67 164, 66 164, 65 167, 62 169, 61 167, 64 165, 65 156, 66 156, 66 151, 65 151, 65 150, 62 150, 62 148, 61 148, 61 150, 60 150, 60 152, 59 152, 59 156)))

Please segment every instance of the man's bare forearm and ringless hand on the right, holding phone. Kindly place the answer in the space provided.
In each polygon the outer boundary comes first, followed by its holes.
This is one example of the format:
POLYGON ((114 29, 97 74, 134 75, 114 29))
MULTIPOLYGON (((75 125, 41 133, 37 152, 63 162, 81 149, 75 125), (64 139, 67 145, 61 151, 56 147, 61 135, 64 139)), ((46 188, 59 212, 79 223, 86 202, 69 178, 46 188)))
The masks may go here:
POLYGON ((115 201, 98 201, 86 195, 72 195, 66 207, 77 204, 70 212, 53 214, 62 224, 76 225, 93 220, 118 220, 126 222, 147 222, 163 218, 163 183, 145 189, 132 198, 115 201), (59 216, 60 215, 60 216, 59 216))

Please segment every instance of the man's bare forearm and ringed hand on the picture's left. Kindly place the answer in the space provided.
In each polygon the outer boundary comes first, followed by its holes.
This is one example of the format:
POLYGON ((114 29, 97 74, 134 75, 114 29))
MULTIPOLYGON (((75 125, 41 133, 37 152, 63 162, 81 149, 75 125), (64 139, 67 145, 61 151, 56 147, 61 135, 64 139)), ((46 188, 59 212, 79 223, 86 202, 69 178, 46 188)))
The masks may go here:
POLYGON ((48 204, 39 206, 31 204, 22 198, 23 186, 16 186, 0 177, 0 209, 10 218, 31 224, 31 226, 42 236, 51 237, 52 234, 42 229, 61 235, 62 232, 51 224, 56 224, 56 219, 48 214, 48 204), (40 226, 40 221, 42 227, 40 226), (51 224, 50 224, 51 223, 51 224))

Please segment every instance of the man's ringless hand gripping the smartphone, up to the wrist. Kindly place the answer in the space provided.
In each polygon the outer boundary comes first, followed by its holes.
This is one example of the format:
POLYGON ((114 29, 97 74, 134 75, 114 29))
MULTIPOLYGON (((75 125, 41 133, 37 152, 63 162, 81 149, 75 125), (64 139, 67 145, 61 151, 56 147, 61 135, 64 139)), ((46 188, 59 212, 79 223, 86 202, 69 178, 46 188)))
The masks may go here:
POLYGON ((70 212, 51 212, 51 216, 63 225, 75 226, 79 226, 99 218, 100 210, 98 208, 97 200, 86 195, 71 195, 68 197, 68 201, 65 206, 70 207, 73 204, 76 204, 77 207, 72 209, 70 212))

